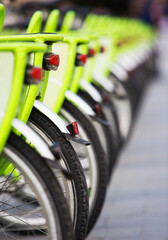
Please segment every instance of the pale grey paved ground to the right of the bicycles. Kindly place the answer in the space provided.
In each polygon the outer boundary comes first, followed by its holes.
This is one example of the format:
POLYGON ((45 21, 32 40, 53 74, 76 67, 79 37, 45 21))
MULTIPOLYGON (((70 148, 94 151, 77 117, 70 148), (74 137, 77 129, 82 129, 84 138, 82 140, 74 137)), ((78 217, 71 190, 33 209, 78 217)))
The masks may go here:
POLYGON ((159 41, 160 75, 145 94, 102 214, 87 240, 168 239, 168 36, 166 39, 159 41))

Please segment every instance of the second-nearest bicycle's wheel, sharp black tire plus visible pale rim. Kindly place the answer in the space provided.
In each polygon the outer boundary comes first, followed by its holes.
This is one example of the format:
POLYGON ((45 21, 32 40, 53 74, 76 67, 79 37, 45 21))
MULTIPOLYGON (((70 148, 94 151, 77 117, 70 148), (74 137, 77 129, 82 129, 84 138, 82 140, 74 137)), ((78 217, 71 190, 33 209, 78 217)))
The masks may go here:
POLYGON ((76 152, 56 125, 37 109, 33 108, 28 124, 49 146, 54 142, 61 145, 62 158, 59 162, 72 172, 73 179, 67 181, 62 176, 59 181, 63 179, 61 186, 69 203, 76 238, 82 240, 87 231, 89 202, 85 176, 76 152))

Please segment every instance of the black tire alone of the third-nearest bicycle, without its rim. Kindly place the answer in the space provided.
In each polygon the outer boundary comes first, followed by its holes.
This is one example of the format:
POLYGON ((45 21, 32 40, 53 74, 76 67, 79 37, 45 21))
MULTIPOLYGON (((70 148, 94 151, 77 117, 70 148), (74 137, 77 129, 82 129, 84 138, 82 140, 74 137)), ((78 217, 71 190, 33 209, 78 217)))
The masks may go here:
POLYGON ((87 135, 87 139, 91 142, 91 147, 95 154, 96 159, 96 166, 97 166, 97 174, 98 179, 96 182, 96 198, 94 201, 94 205, 92 210, 89 210, 89 222, 88 222, 88 230, 87 234, 91 231, 93 226, 95 225, 101 209, 103 207, 103 203, 105 200, 106 195, 106 188, 107 188, 107 179, 108 179, 108 172, 107 172, 107 165, 106 160, 104 158, 104 151, 102 149, 100 140, 98 135, 91 124, 90 120, 84 115, 76 106, 74 106, 68 100, 64 101, 63 107, 60 111, 61 116, 65 116, 65 111, 70 113, 74 119, 77 120, 80 132, 80 126, 83 128, 87 135))

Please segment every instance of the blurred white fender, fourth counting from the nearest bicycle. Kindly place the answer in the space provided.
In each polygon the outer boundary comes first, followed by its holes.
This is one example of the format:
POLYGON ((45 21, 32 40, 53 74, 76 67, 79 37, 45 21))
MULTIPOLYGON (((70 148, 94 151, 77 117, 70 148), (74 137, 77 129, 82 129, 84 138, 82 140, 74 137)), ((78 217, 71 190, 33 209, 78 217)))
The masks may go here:
POLYGON ((103 101, 101 94, 92 84, 84 79, 81 79, 79 84, 96 102, 101 103, 103 101))

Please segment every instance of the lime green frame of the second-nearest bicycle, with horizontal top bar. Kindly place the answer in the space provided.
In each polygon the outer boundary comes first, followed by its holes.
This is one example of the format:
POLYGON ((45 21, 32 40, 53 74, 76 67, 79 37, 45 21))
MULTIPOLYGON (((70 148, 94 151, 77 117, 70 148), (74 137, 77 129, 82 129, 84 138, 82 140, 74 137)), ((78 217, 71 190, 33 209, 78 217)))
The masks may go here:
MULTIPOLYGON (((41 29, 41 23, 42 23, 42 13, 37 11, 33 17, 31 18, 30 24, 28 26, 27 32, 32 34, 25 34, 25 35, 11 35, 11 36, 2 36, 0 37, 1 41, 30 41, 30 42, 36 42, 36 43, 55 43, 58 41, 62 41, 63 37, 58 34, 35 34, 34 32, 40 32, 41 29)), ((48 45, 48 51, 51 49, 51 46, 48 45)), ((33 64, 39 67, 42 67, 43 62, 43 54, 42 53, 35 53, 33 64)), ((32 85, 26 89, 27 96, 25 101, 23 101, 23 107, 22 111, 20 111, 19 119, 23 122, 27 122, 34 101, 36 97, 39 95, 40 91, 44 91, 44 88, 47 86, 48 81, 48 71, 45 71, 43 83, 40 84, 40 86, 32 85)))

